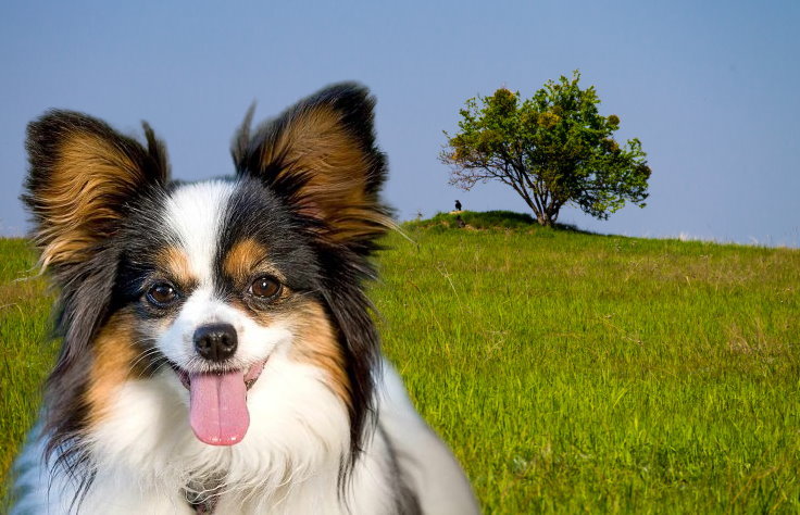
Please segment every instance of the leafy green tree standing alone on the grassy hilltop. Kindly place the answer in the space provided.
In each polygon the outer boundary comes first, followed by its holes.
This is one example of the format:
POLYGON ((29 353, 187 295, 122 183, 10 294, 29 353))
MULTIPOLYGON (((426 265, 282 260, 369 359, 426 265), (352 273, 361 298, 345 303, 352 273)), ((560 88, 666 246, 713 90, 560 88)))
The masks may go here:
POLYGON ((451 167, 450 184, 470 190, 500 180, 546 226, 566 204, 600 219, 626 202, 643 208, 650 167, 641 142, 614 140, 620 118, 601 116, 595 87, 580 89, 579 79, 575 71, 572 79, 549 80, 528 100, 505 88, 468 99, 439 155, 451 167))

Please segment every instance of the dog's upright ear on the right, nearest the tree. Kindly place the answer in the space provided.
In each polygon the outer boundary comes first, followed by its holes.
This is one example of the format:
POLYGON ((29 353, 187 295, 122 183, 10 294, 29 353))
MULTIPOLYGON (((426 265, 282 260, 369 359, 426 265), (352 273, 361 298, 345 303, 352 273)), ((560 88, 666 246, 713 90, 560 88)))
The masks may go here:
POLYGON ((234 138, 236 168, 320 222, 324 238, 370 249, 391 226, 378 196, 386 159, 375 145, 374 105, 366 88, 334 85, 262 125, 252 138, 251 109, 234 138))

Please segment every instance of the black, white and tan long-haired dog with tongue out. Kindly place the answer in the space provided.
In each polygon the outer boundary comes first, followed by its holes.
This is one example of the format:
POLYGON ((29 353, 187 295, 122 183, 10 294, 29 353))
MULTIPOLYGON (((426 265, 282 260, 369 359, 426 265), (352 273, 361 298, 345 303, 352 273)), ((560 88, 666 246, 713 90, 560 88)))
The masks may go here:
POLYGON ((12 513, 477 513, 382 356, 392 227, 374 98, 329 86, 233 140, 235 175, 71 111, 27 129, 23 201, 62 338, 12 513))

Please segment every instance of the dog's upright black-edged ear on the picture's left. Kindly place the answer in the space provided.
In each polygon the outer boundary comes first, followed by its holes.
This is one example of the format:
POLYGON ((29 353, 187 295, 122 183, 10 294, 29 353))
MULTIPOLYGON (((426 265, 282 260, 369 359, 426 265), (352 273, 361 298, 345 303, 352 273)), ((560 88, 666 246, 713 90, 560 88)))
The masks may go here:
POLYGON ((166 183, 164 147, 143 126, 147 149, 75 112, 50 111, 28 125, 22 199, 34 215, 42 267, 68 274, 116 233, 138 194, 166 183))

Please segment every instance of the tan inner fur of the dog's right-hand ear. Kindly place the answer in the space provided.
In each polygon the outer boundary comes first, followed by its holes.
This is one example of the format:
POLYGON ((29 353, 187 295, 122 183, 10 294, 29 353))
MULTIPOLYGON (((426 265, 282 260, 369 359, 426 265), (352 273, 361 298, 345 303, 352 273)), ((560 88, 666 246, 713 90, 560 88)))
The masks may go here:
POLYGON ((301 211, 325 219, 334 240, 374 236, 395 226, 375 209, 376 194, 366 192, 367 154, 329 106, 297 115, 273 146, 264 146, 261 161, 268 164, 278 156, 288 164, 282 173, 309 174, 301 211))

